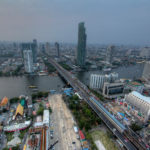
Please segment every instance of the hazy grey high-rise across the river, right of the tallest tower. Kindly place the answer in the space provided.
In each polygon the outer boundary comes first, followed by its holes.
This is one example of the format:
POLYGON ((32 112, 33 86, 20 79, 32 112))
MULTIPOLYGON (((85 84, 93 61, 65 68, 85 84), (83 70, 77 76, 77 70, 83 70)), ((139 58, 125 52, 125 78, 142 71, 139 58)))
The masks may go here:
POLYGON ((113 61, 114 50, 115 50, 115 46, 109 46, 106 51, 106 61, 109 62, 110 64, 113 61))

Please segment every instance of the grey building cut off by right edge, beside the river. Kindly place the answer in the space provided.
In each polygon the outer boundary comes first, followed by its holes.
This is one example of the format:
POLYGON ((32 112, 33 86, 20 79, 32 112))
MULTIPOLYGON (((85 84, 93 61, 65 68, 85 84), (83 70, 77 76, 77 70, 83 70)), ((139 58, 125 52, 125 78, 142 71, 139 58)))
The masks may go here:
POLYGON ((150 61, 145 63, 142 78, 145 81, 150 82, 150 61))

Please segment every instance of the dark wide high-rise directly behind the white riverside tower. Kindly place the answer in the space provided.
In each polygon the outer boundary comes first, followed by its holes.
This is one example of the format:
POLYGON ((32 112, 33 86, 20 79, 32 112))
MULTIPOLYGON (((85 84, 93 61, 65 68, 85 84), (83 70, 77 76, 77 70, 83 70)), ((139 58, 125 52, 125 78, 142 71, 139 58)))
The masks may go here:
POLYGON ((21 44, 21 50, 22 50, 22 56, 24 50, 31 50, 32 56, 33 56, 33 63, 37 62, 37 43, 34 41, 34 43, 22 43, 21 44))

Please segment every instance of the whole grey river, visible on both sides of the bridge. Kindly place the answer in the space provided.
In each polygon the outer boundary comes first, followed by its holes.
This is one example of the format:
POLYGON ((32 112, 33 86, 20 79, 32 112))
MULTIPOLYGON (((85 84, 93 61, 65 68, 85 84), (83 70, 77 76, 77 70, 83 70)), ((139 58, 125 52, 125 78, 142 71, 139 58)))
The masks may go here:
MULTIPOLYGON (((117 72, 120 78, 139 78, 142 75, 143 64, 129 67, 120 67, 111 72, 117 72)), ((77 77, 86 85, 89 85, 91 73, 104 74, 102 71, 80 72, 77 77)), ((39 91, 60 90, 65 84, 59 76, 34 76, 34 77, 0 77, 0 99, 19 95, 30 95, 33 89, 30 85, 38 87, 39 91)))

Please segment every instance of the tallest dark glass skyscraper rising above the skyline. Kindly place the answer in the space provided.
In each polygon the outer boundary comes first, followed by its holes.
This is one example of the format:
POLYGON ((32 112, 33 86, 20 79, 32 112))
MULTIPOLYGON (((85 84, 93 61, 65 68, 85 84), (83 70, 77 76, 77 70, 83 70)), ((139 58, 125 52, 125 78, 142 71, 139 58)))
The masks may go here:
POLYGON ((77 46, 77 65, 85 67, 86 59, 86 29, 84 27, 84 22, 79 23, 78 26, 78 46, 77 46))

